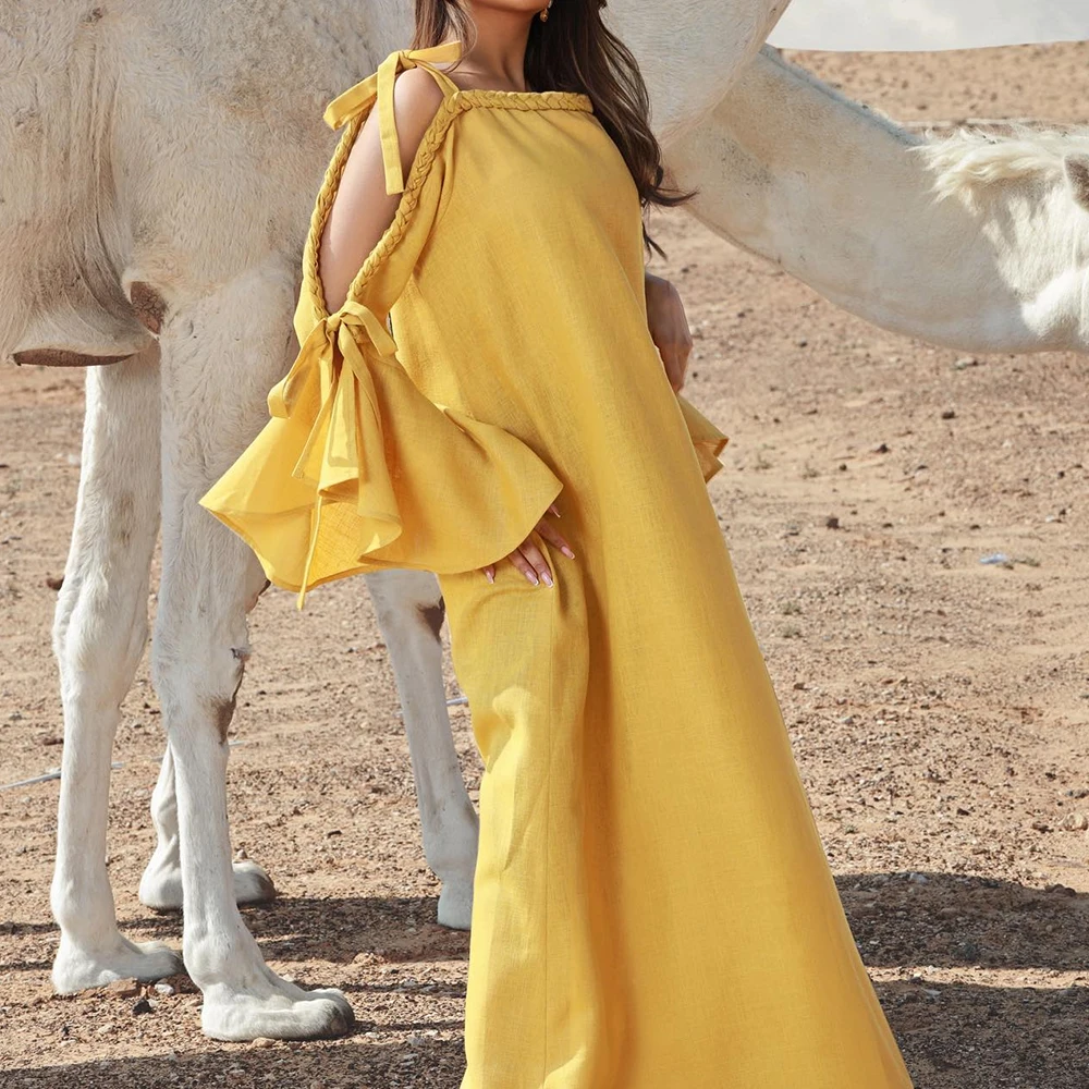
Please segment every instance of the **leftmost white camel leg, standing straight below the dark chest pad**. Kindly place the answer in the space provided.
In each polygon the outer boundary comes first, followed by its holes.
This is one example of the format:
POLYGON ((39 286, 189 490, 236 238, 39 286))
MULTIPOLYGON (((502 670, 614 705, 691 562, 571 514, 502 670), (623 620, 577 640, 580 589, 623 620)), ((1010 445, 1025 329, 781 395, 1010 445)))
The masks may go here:
POLYGON ((118 930, 106 870, 110 755, 121 702, 147 639, 159 522, 159 374, 154 351, 87 372, 75 527, 53 623, 64 754, 51 903, 62 993, 181 970, 159 942, 118 930))

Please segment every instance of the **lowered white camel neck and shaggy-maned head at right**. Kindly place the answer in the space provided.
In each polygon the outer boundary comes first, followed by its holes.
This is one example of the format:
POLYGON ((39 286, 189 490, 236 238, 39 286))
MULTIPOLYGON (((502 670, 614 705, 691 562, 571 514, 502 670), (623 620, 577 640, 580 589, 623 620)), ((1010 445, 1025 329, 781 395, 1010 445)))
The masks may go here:
POLYGON ((766 46, 668 162, 699 220, 876 326, 1089 352, 1089 132, 922 139, 766 46))

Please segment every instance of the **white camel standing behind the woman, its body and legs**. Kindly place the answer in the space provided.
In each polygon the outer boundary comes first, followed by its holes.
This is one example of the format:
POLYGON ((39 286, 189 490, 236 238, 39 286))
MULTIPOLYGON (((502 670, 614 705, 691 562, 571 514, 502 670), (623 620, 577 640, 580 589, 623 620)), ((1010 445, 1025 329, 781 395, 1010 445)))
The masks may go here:
MULTIPOLYGON (((614 3, 662 135, 721 99, 786 0, 614 3), (659 48, 662 41, 670 49, 659 48)), ((54 624, 65 745, 53 983, 71 992, 178 971, 175 953, 118 930, 105 865, 110 749, 146 640, 168 754, 152 803, 160 843, 140 884, 184 892, 184 962, 222 1039, 343 1031, 335 991, 268 969, 236 898, 227 729, 264 588, 249 551, 197 506, 264 423, 294 355, 301 243, 333 135, 325 103, 409 38, 404 0, 12 0, 0 10, 0 355, 91 366, 83 472, 54 624), (109 366, 106 366, 109 364, 109 366)), ((465 926, 476 832, 439 677, 432 577, 368 579, 405 706, 440 919, 465 926)))

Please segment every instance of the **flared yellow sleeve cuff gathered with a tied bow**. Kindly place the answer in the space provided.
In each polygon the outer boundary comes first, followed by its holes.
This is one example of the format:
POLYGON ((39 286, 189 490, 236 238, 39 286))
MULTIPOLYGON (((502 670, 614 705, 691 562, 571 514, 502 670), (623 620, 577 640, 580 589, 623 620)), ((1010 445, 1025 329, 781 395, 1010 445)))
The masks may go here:
POLYGON ((355 572, 501 560, 562 489, 516 436, 428 400, 359 302, 315 323, 269 411, 200 502, 299 605, 308 589, 355 572))

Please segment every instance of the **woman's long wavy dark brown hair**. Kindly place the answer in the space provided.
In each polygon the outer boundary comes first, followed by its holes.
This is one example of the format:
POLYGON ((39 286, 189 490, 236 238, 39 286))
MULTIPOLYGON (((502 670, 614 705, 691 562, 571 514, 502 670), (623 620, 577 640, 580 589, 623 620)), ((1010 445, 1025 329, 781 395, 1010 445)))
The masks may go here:
MULTIPOLYGON (((560 0, 547 23, 533 21, 526 45, 530 90, 573 90, 589 95, 594 113, 620 149, 644 208, 672 207, 689 199, 665 184, 662 149, 650 127, 650 96, 631 50, 601 20, 607 0, 560 0)), ((543 2, 541 3, 543 8, 543 2)), ((416 0, 414 49, 456 37, 468 50, 473 17, 465 0, 416 0)), ((644 229, 647 246, 661 247, 644 229)))

